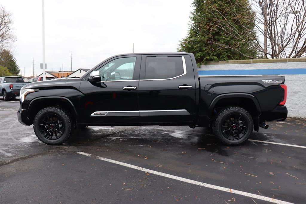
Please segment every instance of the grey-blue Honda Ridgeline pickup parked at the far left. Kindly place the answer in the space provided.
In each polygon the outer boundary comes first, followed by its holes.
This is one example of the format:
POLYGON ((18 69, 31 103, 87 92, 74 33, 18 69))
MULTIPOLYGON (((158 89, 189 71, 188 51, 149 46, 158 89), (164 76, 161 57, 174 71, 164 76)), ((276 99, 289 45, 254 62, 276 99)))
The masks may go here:
POLYGON ((19 76, 0 77, 0 96, 3 96, 5 101, 16 98, 20 94, 20 89, 26 84, 23 78, 19 76))

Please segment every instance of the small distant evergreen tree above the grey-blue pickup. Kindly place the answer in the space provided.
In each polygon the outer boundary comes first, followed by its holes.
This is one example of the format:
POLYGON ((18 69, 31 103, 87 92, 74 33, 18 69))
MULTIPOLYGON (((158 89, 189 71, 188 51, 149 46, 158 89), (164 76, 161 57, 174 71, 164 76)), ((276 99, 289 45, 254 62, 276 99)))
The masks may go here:
POLYGON ((13 76, 18 76, 20 72, 16 59, 9 50, 2 50, 0 53, 0 65, 6 67, 13 76))

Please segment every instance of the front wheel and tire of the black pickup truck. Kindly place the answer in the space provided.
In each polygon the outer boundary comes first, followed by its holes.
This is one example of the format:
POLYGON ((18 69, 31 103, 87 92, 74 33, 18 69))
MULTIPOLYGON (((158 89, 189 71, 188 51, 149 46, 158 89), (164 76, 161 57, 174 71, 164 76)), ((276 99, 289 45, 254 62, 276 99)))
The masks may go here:
POLYGON ((72 120, 69 112, 55 106, 41 109, 33 122, 35 135, 48 145, 66 142, 71 135, 71 127, 72 120))

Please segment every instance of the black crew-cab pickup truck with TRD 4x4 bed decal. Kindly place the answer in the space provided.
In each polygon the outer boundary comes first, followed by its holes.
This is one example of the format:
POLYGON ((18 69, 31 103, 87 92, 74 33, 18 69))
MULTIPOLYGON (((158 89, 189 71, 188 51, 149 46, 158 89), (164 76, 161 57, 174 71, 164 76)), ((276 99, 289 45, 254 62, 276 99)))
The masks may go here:
POLYGON ((283 76, 199 77, 191 53, 116 55, 79 79, 27 84, 18 121, 43 143, 62 144, 73 128, 123 125, 211 127, 240 144, 265 122, 287 117, 283 76))

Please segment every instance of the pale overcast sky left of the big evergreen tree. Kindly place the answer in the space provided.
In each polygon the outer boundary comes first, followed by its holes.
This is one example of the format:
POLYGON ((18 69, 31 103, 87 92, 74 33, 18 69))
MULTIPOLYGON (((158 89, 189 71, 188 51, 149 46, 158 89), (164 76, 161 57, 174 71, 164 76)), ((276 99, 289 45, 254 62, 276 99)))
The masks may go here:
MULTIPOLYGON (((47 71, 92 68, 132 52, 175 52, 188 31, 193 0, 45 0, 47 71)), ((1 0, 13 14, 13 52, 25 76, 42 73, 41 0, 1 0)))

